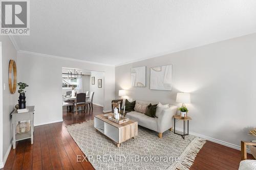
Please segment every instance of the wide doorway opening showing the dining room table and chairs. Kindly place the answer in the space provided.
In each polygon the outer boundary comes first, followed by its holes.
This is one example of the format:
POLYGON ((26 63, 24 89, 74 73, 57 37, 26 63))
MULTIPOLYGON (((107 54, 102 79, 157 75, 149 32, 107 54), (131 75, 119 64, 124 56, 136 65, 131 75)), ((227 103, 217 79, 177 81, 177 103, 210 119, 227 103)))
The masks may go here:
POLYGON ((62 118, 76 124, 102 114, 105 73, 62 67, 62 118))

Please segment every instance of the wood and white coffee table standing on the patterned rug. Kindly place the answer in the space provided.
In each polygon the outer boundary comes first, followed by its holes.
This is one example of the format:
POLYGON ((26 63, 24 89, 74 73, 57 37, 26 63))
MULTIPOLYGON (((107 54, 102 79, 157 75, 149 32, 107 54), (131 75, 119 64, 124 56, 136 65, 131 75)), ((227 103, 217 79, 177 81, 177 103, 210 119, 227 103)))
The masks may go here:
POLYGON ((115 141, 118 148, 122 142, 131 138, 135 139, 138 136, 138 122, 129 120, 119 125, 103 117, 103 115, 94 116, 94 128, 115 141))

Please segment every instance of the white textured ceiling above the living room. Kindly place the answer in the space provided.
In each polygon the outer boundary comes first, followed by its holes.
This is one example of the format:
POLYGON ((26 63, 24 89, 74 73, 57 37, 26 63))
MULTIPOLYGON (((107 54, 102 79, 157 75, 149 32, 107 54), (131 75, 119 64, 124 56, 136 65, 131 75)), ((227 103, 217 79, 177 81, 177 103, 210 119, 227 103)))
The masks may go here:
POLYGON ((256 32, 255 0, 36 0, 21 51, 118 65, 256 32))

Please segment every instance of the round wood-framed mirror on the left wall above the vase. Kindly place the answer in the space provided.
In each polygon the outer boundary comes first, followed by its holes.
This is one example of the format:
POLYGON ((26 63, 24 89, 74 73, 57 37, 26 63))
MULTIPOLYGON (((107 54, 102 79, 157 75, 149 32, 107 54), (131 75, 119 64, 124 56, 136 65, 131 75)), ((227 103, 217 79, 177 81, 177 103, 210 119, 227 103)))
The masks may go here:
POLYGON ((17 69, 14 60, 9 62, 9 89, 11 94, 14 94, 17 87, 17 69))

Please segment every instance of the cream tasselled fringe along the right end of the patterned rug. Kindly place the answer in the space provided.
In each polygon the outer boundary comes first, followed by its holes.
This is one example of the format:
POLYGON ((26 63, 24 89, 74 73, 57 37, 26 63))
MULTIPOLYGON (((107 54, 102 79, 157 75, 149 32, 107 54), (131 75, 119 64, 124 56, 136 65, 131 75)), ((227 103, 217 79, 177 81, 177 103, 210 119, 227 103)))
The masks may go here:
POLYGON ((193 163, 194 160, 197 157, 197 154, 202 149, 203 145, 205 144, 206 140, 201 138, 196 138, 197 141, 195 141, 193 144, 189 146, 189 151, 183 158, 183 160, 180 162, 180 164, 176 167, 178 170, 187 170, 189 169, 193 163))

